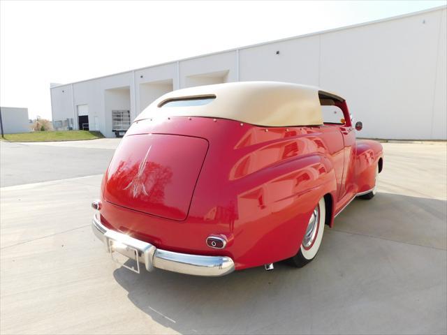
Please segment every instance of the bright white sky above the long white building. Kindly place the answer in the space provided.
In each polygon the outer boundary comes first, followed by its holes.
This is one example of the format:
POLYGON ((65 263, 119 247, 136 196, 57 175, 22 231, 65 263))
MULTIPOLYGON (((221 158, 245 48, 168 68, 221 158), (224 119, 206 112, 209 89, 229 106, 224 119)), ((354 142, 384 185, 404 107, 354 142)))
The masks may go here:
POLYGON ((444 1, 0 0, 0 105, 51 119, 50 82, 445 6, 444 1))

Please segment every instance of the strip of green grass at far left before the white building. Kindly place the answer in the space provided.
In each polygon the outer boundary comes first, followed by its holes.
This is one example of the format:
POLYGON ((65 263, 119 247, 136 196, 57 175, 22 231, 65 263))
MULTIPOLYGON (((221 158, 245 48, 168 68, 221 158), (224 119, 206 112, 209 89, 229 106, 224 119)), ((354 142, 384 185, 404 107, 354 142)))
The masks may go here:
POLYGON ((5 134, 0 140, 11 142, 49 142, 49 141, 79 141, 103 138, 99 131, 34 131, 31 133, 5 134))

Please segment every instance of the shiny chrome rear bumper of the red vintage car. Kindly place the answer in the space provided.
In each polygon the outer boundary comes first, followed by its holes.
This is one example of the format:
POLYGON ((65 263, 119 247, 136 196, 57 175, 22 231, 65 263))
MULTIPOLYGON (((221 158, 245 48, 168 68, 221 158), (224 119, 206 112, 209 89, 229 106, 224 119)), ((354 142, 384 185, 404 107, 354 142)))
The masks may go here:
POLYGON ((96 215, 93 217, 91 229, 96 237, 103 241, 108 253, 121 253, 144 264, 147 271, 152 271, 156 267, 180 274, 223 276, 235 269, 233 260, 227 256, 189 255, 158 249, 145 241, 105 228, 96 215))

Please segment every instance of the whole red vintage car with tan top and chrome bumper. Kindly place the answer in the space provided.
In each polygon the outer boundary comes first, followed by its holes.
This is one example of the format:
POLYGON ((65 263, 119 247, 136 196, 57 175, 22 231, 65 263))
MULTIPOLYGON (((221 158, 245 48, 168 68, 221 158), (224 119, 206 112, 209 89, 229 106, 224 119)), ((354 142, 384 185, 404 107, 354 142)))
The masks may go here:
POLYGON ((127 131, 92 203, 92 228, 137 272, 222 276, 286 259, 302 267, 325 225, 356 196, 374 196, 382 168, 381 144, 356 141, 346 101, 328 91, 180 89, 127 131))

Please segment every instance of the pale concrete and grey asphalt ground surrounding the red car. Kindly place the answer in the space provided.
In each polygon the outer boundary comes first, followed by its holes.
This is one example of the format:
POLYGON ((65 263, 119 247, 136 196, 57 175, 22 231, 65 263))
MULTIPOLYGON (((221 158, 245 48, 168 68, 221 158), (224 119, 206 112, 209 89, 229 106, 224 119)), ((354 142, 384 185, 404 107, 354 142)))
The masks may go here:
POLYGON ((306 267, 200 278, 117 268, 94 238, 117 142, 1 144, 1 334, 446 334, 446 143, 383 144, 379 193, 306 267))

